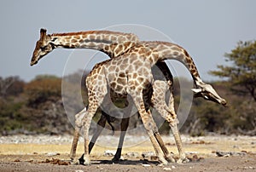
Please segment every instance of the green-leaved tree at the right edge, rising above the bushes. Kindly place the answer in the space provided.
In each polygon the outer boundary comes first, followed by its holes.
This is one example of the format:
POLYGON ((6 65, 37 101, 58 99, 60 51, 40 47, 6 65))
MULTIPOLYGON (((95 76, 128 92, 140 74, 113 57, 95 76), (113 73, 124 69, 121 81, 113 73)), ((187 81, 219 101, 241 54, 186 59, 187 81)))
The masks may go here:
POLYGON ((218 66, 210 72, 228 78, 230 89, 241 95, 251 95, 256 101, 256 41, 237 43, 236 49, 224 54, 230 66, 218 66))

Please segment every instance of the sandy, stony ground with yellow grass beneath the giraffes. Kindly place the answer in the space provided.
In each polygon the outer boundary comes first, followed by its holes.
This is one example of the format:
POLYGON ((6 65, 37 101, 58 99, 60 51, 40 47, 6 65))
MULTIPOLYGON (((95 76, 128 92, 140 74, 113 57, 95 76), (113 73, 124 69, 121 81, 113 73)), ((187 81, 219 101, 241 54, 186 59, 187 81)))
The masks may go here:
MULTIPOLYGON (((256 137, 182 136, 190 162, 165 166, 150 155, 154 150, 147 138, 129 135, 126 138, 123 160, 119 163, 112 163, 111 153, 105 153, 114 152, 118 136, 107 135, 96 142, 90 154, 91 165, 83 166, 70 164, 70 135, 0 137, 0 171, 256 171, 256 137)), ((164 136, 163 139, 177 157, 172 137, 164 136)), ((80 141, 77 154, 80 156, 82 153, 83 142, 80 141)))

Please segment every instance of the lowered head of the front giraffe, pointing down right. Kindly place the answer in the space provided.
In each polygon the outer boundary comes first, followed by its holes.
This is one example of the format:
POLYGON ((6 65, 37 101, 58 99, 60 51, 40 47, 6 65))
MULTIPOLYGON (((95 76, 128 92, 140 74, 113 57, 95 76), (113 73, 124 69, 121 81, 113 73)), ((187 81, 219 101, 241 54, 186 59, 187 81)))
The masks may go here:
POLYGON ((212 85, 203 83, 197 89, 192 89, 192 91, 195 93, 195 97, 202 97, 205 100, 211 100, 216 103, 219 103, 223 106, 227 105, 227 101, 221 98, 215 89, 212 88, 212 85))

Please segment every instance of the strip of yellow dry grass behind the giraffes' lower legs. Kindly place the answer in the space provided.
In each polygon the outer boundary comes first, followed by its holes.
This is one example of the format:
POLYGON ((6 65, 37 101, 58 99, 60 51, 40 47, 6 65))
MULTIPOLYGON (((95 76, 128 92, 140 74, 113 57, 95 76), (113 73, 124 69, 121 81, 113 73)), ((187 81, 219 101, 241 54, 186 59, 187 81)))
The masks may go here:
MULTIPOLYGON (((168 137, 164 138, 168 149, 177 154, 177 148, 172 142, 168 142, 168 137)), ((108 145, 108 144, 106 144, 108 145)), ((183 144, 185 152, 197 152, 198 154, 211 154, 214 151, 228 151, 228 152, 256 152, 256 137, 206 137, 196 138, 194 140, 187 140, 183 144)), ((70 152, 71 144, 65 143, 61 145, 56 144, 1 144, 0 154, 44 154, 48 152, 58 152, 61 154, 68 154, 70 152)), ((83 143, 80 142, 78 146, 78 154, 83 153, 83 143)), ((97 146, 93 148, 91 154, 99 155, 106 150, 115 150, 114 147, 97 146)), ((127 152, 154 152, 150 141, 143 142, 137 146, 129 146, 123 148, 123 154, 127 152)))

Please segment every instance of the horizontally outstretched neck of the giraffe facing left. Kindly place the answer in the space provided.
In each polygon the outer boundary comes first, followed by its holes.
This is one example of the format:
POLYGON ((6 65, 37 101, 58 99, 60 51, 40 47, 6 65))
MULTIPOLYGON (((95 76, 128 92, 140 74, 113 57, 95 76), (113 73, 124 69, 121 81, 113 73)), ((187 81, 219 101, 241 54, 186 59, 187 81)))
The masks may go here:
POLYGON ((138 42, 134 34, 110 31, 54 33, 49 37, 54 49, 96 49, 110 58, 124 54, 138 42))

